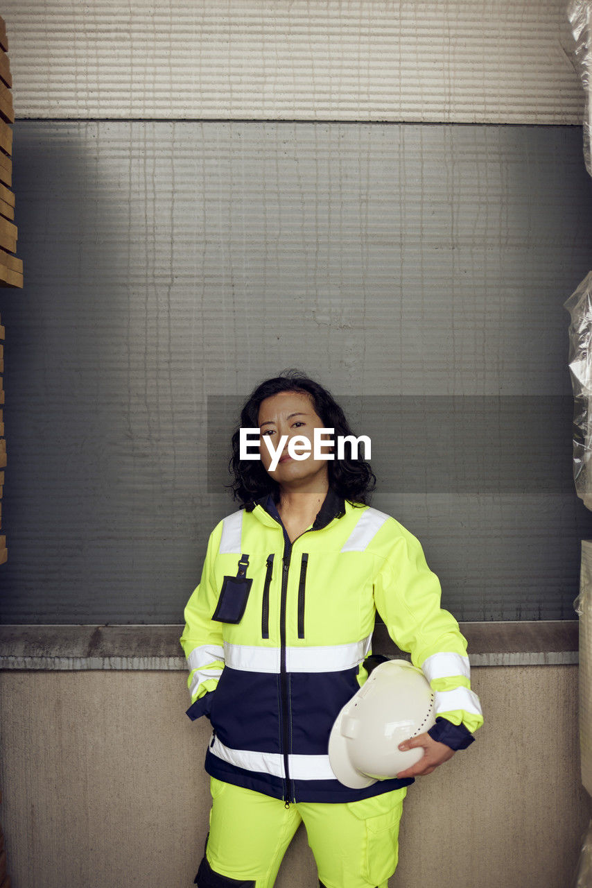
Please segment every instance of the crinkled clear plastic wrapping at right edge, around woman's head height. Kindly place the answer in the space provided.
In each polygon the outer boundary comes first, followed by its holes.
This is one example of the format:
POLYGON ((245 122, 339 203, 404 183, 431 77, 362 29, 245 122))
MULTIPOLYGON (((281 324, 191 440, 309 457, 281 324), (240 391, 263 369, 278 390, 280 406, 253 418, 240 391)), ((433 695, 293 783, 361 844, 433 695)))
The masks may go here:
POLYGON ((577 495, 592 509, 592 272, 588 272, 564 307, 571 317, 573 481, 577 495))

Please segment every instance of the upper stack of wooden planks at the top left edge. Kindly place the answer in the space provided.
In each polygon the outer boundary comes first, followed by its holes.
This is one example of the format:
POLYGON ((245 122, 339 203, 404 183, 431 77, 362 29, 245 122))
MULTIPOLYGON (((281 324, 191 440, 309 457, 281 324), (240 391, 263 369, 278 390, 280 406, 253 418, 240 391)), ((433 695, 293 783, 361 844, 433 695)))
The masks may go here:
POLYGON ((12 187, 12 75, 6 25, 0 17, 0 287, 22 287, 22 261, 16 258, 12 187))

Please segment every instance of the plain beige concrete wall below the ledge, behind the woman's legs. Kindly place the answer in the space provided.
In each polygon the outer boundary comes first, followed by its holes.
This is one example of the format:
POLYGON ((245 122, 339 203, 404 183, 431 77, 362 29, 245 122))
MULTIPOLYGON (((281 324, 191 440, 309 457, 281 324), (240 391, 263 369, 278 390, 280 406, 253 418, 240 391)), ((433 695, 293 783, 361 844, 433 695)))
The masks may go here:
MULTIPOLYGON (((409 790, 391 888, 565 888, 588 825, 575 665, 478 667, 486 724, 409 790)), ((0 672, 12 888, 182 888, 208 829, 209 723, 175 671, 0 672)), ((279 888, 315 886, 299 831, 279 888)))

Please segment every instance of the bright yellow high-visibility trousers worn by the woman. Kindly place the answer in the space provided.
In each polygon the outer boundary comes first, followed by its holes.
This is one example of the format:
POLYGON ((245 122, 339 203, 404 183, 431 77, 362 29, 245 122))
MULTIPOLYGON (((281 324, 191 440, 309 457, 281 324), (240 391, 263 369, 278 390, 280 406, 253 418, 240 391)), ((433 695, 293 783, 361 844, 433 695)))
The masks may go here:
POLYGON ((208 884, 216 884, 211 876, 219 874, 254 888, 272 888, 288 844, 304 821, 326 888, 387 888, 399 859, 407 787, 358 802, 296 802, 288 808, 281 799, 213 777, 210 789, 208 884))

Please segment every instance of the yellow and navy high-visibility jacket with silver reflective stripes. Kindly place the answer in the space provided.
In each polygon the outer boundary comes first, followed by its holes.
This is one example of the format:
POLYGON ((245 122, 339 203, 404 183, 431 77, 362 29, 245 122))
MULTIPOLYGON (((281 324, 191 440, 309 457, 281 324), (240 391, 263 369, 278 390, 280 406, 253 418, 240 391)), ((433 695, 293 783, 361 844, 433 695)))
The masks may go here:
POLYGON ((299 802, 351 802, 413 782, 349 789, 329 765, 335 718, 367 678, 376 611, 430 681, 443 717, 431 736, 468 746, 483 718, 466 641, 440 594, 414 535, 332 490, 293 543, 271 496, 220 521, 180 639, 187 715, 209 716, 214 729, 206 771, 299 802))

